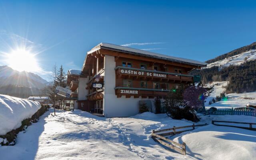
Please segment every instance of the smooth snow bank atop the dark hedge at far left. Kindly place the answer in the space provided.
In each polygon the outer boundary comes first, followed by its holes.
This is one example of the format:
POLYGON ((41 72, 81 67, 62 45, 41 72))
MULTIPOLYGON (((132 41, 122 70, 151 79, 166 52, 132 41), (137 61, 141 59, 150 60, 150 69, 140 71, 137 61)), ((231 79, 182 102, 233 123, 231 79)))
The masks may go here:
POLYGON ((30 118, 40 107, 39 102, 0 94, 0 135, 19 128, 22 120, 30 118))

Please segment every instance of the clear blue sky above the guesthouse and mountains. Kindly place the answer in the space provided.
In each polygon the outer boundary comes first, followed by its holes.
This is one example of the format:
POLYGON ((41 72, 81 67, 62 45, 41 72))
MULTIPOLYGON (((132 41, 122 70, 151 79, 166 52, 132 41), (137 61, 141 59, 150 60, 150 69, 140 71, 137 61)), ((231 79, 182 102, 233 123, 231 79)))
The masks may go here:
POLYGON ((256 2, 246 0, 0 1, 0 52, 31 47, 46 79, 55 63, 81 69, 100 42, 206 61, 255 42, 255 28, 256 2))

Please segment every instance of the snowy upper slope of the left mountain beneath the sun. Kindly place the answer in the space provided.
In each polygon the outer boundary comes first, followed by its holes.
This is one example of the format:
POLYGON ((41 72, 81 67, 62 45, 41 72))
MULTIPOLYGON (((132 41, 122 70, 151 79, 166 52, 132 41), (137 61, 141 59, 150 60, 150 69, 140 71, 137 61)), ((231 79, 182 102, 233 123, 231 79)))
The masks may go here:
POLYGON ((0 86, 17 85, 33 88, 43 88, 47 81, 37 74, 13 70, 8 66, 0 66, 0 86))

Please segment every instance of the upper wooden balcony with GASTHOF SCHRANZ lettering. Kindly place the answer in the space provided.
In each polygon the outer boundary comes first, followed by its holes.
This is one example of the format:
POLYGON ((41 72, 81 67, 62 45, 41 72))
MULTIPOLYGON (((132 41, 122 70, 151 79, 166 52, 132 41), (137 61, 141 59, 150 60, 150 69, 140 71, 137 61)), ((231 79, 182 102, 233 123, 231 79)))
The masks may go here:
POLYGON ((155 71, 155 70, 144 70, 144 69, 138 69, 138 68, 129 68, 129 67, 122 67, 117 66, 115 68, 116 75, 119 78, 122 77, 136 77, 142 78, 144 80, 165 80, 166 82, 193 82, 193 77, 191 75, 186 74, 176 74, 171 72, 162 72, 162 71, 155 71))

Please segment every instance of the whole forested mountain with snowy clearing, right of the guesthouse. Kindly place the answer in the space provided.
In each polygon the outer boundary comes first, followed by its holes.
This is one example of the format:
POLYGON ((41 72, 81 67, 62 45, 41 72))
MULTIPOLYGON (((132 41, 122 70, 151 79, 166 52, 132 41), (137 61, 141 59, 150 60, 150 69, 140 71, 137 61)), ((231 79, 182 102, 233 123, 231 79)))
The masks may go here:
POLYGON ((201 75, 203 84, 228 81, 226 93, 256 91, 256 42, 218 56, 206 68, 190 72, 201 75))

